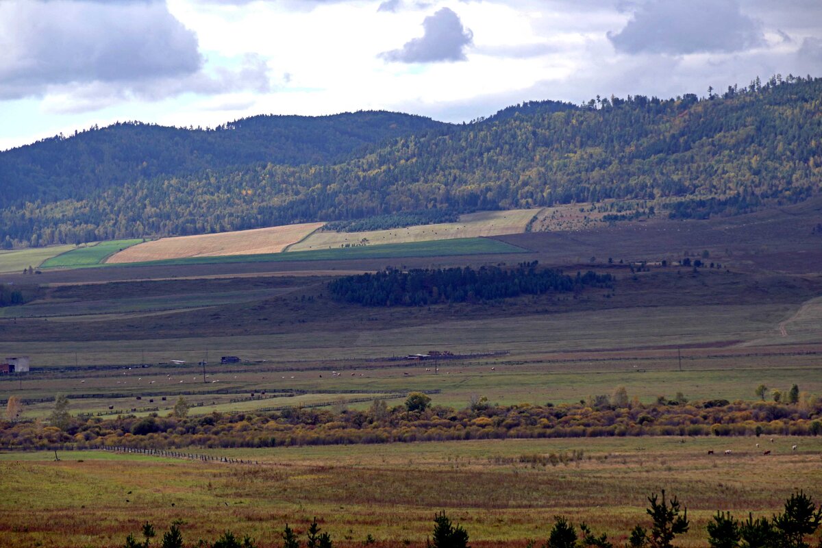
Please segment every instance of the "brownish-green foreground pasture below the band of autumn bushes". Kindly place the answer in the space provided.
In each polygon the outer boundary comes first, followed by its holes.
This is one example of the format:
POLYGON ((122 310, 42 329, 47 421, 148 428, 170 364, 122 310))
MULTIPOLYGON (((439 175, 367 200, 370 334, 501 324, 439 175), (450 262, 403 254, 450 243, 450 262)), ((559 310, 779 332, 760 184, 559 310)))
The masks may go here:
POLYGON ((202 449, 240 465, 101 451, 0 454, 9 546, 120 546, 146 520, 182 520, 189 542, 226 529, 281 546, 284 523, 314 516, 337 546, 424 546, 436 511, 472 546, 524 546, 566 515, 617 545, 647 527, 646 497, 665 489, 688 508, 677 546, 704 546, 718 509, 769 516, 794 490, 822 497, 822 440, 622 438, 202 449), (763 456, 759 441, 773 454, 763 456), (792 444, 799 450, 791 451, 792 444), (714 449, 717 454, 708 455, 714 449), (723 455, 731 449, 731 455, 723 455), (607 509, 607 510, 603 510, 607 509), (36 512, 37 523, 30 515, 36 512), (206 518, 207 516, 207 518, 206 518))

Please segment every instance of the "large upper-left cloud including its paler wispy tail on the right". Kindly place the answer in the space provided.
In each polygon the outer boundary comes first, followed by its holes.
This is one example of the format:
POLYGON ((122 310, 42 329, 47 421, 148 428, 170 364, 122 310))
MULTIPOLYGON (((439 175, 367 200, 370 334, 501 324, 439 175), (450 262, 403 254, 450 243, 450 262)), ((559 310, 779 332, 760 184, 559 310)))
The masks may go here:
POLYGON ((270 87, 256 55, 206 70, 196 35, 151 0, 2 2, 0 50, 0 99, 52 94, 58 112, 270 87))

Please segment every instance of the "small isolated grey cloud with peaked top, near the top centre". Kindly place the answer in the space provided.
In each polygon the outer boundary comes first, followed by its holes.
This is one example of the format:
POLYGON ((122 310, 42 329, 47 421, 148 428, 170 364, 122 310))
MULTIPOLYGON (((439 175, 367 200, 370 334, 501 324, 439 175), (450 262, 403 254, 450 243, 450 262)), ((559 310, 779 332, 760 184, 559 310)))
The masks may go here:
POLYGON ((459 16, 447 7, 423 21, 423 36, 402 48, 381 53, 393 62, 464 61, 465 48, 473 44, 473 33, 465 29, 459 16))

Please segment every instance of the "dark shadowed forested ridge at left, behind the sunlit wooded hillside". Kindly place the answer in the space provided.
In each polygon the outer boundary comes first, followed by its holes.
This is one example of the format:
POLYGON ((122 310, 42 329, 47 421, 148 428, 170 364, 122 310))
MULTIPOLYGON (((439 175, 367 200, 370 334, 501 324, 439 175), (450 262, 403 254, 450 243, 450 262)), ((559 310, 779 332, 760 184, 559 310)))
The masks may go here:
POLYGON ((402 113, 255 116, 214 129, 140 122, 93 127, 0 153, 0 207, 83 199, 138 179, 258 163, 339 163, 386 140, 446 127, 402 113))

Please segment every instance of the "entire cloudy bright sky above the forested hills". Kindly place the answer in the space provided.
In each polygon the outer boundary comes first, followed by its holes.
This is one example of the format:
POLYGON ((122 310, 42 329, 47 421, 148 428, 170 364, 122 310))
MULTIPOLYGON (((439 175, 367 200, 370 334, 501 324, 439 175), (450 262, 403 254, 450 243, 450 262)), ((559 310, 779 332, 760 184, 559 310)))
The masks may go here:
POLYGON ((822 76, 819 0, 0 0, 0 150, 139 120, 706 95, 822 76))

